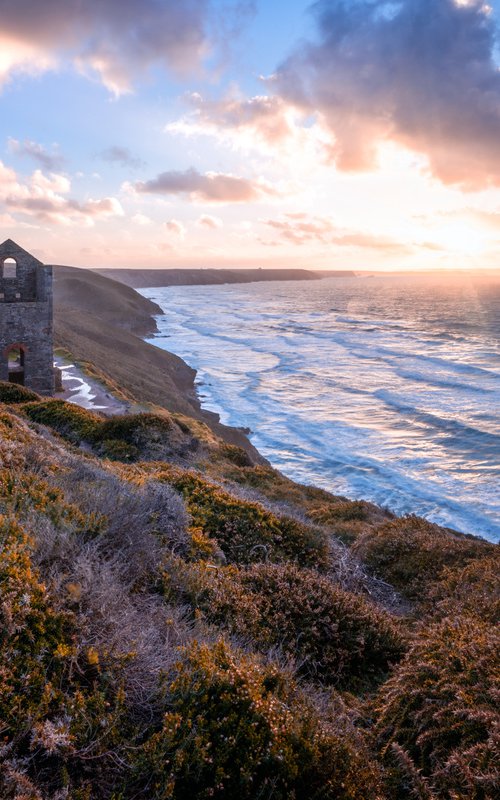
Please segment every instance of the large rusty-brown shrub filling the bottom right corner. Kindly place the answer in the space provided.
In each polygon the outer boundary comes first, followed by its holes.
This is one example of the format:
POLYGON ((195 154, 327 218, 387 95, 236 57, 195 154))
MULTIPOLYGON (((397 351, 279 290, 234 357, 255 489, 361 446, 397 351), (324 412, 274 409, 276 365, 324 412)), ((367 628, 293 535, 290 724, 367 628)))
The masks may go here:
POLYGON ((498 796, 499 651, 495 627, 446 619, 420 633, 380 690, 382 754, 393 763, 394 746, 443 800, 498 796))

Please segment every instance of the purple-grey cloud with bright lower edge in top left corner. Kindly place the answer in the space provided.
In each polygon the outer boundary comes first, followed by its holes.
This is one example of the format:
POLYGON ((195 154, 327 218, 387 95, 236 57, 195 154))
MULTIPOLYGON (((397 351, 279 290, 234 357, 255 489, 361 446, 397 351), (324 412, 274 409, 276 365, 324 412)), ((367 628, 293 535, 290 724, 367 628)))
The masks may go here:
POLYGON ((209 0, 0 0, 0 83, 69 57, 115 94, 160 65, 191 70, 207 52, 209 0))

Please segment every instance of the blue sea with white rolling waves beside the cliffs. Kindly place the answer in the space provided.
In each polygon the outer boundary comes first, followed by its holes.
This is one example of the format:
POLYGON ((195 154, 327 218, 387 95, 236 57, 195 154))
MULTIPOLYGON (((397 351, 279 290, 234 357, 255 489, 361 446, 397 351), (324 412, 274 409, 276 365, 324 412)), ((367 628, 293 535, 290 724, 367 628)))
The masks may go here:
POLYGON ((500 540, 500 273, 141 293, 149 341, 285 475, 500 540))

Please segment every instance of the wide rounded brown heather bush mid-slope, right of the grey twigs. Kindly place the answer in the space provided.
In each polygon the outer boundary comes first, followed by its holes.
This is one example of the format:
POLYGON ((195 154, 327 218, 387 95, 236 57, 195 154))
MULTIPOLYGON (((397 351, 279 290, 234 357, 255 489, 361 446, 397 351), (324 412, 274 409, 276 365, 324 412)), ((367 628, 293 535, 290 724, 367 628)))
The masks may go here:
POLYGON ((404 652, 387 613, 293 564, 216 571, 201 566, 184 574, 174 565, 167 587, 182 583, 212 623, 264 652, 279 648, 302 674, 327 684, 366 687, 404 652))

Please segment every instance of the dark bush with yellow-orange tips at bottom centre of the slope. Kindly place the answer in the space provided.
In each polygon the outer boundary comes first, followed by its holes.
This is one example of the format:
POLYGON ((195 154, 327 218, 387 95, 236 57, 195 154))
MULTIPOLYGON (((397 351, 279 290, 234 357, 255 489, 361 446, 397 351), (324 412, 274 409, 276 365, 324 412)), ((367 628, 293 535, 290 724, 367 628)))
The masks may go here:
POLYGON ((151 800, 375 800, 353 734, 322 725, 290 676, 222 641, 194 645, 169 686, 162 729, 136 774, 151 800))

